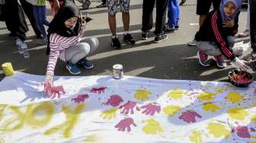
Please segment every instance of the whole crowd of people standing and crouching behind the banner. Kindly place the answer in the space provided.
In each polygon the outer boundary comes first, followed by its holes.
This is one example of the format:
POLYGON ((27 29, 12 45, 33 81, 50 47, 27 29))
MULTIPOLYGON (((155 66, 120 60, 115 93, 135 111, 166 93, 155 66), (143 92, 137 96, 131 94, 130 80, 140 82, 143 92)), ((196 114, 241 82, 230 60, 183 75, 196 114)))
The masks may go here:
MULTIPOLYGON (((1 0, 3 1, 3 0, 1 0)), ((82 0, 84 3, 88 0, 82 0)), ((46 20, 46 0, 5 0, 5 24, 14 37, 18 51, 29 57, 27 52, 26 32, 28 30, 24 13, 34 29, 40 44, 47 45, 49 62, 46 68, 46 81, 53 85, 54 68, 57 59, 66 62, 66 68, 72 75, 81 73, 82 68, 93 68, 94 64, 86 59, 99 45, 96 37, 83 37, 85 25, 89 17, 82 16, 73 0, 49 0, 53 11, 53 20, 46 20), (14 18, 13 18, 14 17, 14 18), (48 27, 47 32, 44 25, 48 27)), ((142 4, 142 40, 148 38, 153 27, 153 9, 156 7, 155 18, 155 43, 167 40, 167 33, 179 29, 180 5, 182 0, 143 0, 142 4), (156 6, 155 6, 156 5, 156 6), (166 19, 167 16, 167 19, 166 19), (166 23, 167 21, 167 23, 166 23)), ((91 3, 91 2, 90 2, 91 3)), ((256 2, 250 0, 247 12, 245 30, 238 37, 251 36, 251 49, 256 52, 256 21, 252 21, 256 12, 256 2), (250 22, 251 21, 251 22, 250 22)), ((120 10, 123 20, 123 41, 128 44, 136 44, 130 29, 130 0, 102 0, 97 8, 108 8, 108 21, 112 37, 110 44, 114 49, 121 48, 120 40, 116 33, 116 14, 120 10)), ((194 40, 187 43, 197 46, 197 56, 200 65, 210 66, 209 56, 213 56, 219 68, 225 68, 226 59, 232 61, 232 65, 240 70, 248 70, 248 62, 238 59, 242 55, 242 49, 235 47, 235 34, 238 33, 238 16, 242 7, 241 0, 197 0, 197 14, 200 29, 195 34, 194 40), (213 4, 213 11, 210 7, 213 4)))

